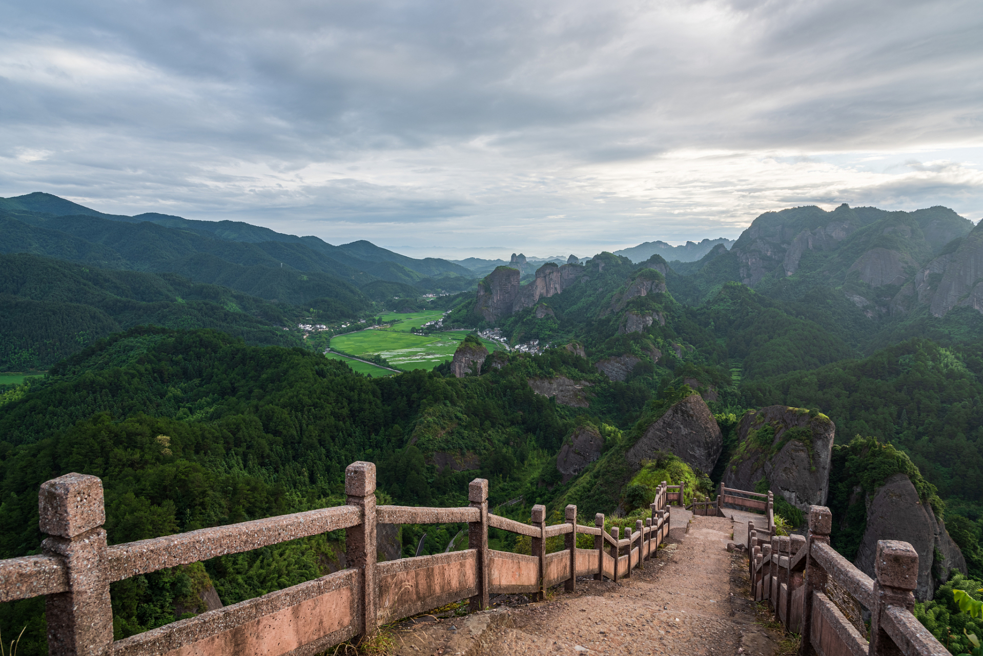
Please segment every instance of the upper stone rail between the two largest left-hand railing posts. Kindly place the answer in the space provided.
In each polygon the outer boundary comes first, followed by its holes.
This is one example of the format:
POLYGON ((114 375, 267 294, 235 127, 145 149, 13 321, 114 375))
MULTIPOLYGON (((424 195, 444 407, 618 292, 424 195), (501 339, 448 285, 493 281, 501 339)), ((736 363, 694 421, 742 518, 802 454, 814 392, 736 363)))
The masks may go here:
POLYGON ((361 508, 337 506, 128 542, 106 548, 104 572, 110 581, 118 581, 361 523, 361 508))

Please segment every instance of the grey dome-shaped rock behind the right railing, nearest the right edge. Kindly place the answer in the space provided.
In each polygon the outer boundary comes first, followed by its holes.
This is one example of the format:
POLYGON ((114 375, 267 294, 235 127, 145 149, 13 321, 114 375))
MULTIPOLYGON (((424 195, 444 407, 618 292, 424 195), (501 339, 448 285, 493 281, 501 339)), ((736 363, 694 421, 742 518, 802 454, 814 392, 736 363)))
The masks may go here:
POLYGON ((919 601, 931 599, 936 587, 949 579, 951 570, 966 573, 966 561, 953 542, 945 523, 931 505, 918 497, 915 486, 903 473, 889 476, 867 499, 867 528, 854 565, 874 577, 878 540, 901 540, 918 552, 919 601), (942 556, 938 560, 936 555, 942 556))

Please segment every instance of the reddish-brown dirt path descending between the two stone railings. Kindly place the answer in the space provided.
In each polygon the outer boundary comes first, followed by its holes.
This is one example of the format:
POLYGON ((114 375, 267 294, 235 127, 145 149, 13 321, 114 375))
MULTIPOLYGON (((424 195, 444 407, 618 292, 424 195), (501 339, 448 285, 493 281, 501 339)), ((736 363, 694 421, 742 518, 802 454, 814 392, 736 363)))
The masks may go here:
POLYGON ((781 634, 762 625, 747 598, 746 556, 725 547, 732 525, 694 517, 678 544, 628 579, 578 580, 576 592, 546 602, 410 628, 396 653, 772 656, 781 634))

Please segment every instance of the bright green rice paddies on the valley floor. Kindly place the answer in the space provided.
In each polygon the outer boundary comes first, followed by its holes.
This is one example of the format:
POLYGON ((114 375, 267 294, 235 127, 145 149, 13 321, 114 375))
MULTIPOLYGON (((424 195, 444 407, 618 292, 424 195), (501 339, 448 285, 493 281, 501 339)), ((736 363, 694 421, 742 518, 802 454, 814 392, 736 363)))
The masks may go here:
MULTIPOLYGON (((423 326, 427 322, 439 319, 442 314, 439 311, 415 312, 405 315, 385 314, 382 315, 382 321, 399 321, 400 323, 390 328, 367 329, 339 334, 331 339, 331 348, 352 355, 380 355, 400 369, 426 369, 430 371, 444 360, 450 360, 454 357, 457 345, 468 334, 464 330, 455 330, 424 336, 412 334, 409 331, 411 328, 423 326)), ((492 341, 484 339, 482 341, 489 352, 496 348, 501 349, 500 345, 492 341)), ((349 363, 362 364, 352 361, 349 363)))

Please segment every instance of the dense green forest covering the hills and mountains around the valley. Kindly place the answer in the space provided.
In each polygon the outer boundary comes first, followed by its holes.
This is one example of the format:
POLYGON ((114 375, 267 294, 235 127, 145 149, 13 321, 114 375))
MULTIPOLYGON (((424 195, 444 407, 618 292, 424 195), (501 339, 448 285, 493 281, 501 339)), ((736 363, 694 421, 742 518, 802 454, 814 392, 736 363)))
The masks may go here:
MULTIPOLYGON (((712 493, 745 411, 784 404, 836 424, 838 518, 861 512, 858 489, 904 473, 965 557, 969 578, 947 585, 983 579, 983 314, 962 273, 977 228, 951 210, 768 212, 698 262, 601 253, 565 265, 562 288, 493 320, 461 268, 369 242, 111 216, 46 195, 0 201, 0 221, 0 371, 36 373, 0 387, 0 558, 37 553, 38 486, 69 471, 102 478, 112 543, 341 504, 357 459, 376 462, 379 503, 463 505, 482 476, 492 506, 519 520, 534 504, 558 517, 573 503, 631 523, 659 481, 712 493), (831 222, 844 237, 828 237, 831 222), (455 293, 422 297, 436 289, 455 293), (331 330, 294 329, 424 307, 449 311, 442 328, 547 348, 496 350, 464 378, 449 362, 369 378, 321 354, 331 330), (533 386, 561 380, 577 399, 533 386), (629 465, 645 430, 694 393, 723 431, 714 470, 667 452, 629 465), (556 456, 575 431, 604 446, 564 477, 556 456)), ((834 534, 848 558, 855 519, 834 534)), ((424 553, 438 553, 461 528, 402 526, 398 544, 413 555, 426 532, 424 553)), ((198 612, 208 586, 230 604, 335 570, 343 539, 120 581, 114 631, 198 612)), ((491 540, 528 548, 504 532, 491 540)), ((937 596, 919 617, 949 630, 947 603, 937 596)), ((28 626, 19 653, 44 652, 42 607, 0 604, 5 635, 28 626)))

